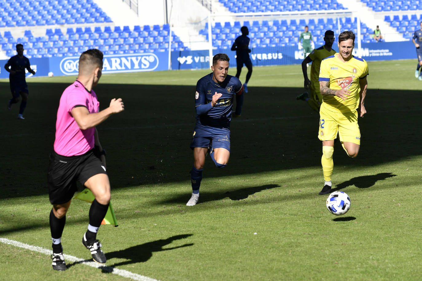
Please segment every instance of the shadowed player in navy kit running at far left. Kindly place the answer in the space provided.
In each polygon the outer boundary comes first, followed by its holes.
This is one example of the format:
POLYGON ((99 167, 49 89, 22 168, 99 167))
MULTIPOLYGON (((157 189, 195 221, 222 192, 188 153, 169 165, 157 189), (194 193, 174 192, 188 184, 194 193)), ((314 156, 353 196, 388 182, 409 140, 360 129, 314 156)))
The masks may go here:
POLYGON ((24 56, 24 45, 17 44, 16 52, 18 54, 16 56, 12 56, 4 66, 4 68, 10 72, 9 81, 10 89, 12 92, 12 98, 9 99, 7 109, 11 110, 12 104, 18 103, 19 96, 22 96, 18 119, 25 119, 22 114, 24 113, 29 94, 28 85, 25 80, 25 69, 32 73, 32 75, 35 75, 35 71, 31 69, 29 59, 24 56))

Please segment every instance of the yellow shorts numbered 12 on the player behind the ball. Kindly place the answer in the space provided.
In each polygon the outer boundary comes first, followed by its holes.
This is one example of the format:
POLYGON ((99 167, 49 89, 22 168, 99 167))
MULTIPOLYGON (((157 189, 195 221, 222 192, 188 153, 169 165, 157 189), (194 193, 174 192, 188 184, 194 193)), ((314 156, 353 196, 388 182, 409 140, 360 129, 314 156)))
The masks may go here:
POLYGON ((318 138, 322 141, 333 140, 340 136, 341 142, 353 142, 360 145, 360 130, 357 124, 357 111, 332 112, 324 104, 319 110, 318 138))

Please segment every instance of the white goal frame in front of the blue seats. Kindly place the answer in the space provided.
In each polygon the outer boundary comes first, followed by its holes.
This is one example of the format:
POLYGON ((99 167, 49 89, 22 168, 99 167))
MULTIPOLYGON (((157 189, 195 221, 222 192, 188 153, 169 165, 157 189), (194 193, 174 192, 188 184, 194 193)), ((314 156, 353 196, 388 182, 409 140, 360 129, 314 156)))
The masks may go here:
MULTIPOLYGON (((336 25, 335 27, 333 27, 333 30, 336 35, 335 37, 337 37, 338 34, 340 34, 341 32, 345 30, 353 30, 356 34, 355 43, 357 43, 357 52, 355 51, 354 53, 357 54, 358 56, 362 54, 361 53, 361 50, 362 50, 361 21, 360 21, 359 13, 357 11, 322 10, 322 11, 257 12, 257 13, 209 13, 208 15, 208 51, 209 51, 209 57, 210 57, 210 60, 209 60, 210 67, 212 65, 213 51, 215 49, 218 49, 218 48, 213 47, 213 40, 215 39, 213 39, 213 34, 212 34, 212 28, 215 27, 215 24, 217 22, 224 23, 228 21, 232 23, 232 26, 233 26, 233 23, 236 21, 240 21, 241 25, 243 25, 244 21, 249 21, 251 24, 253 21, 259 21, 260 24, 262 24, 262 21, 268 21, 268 23, 272 24, 274 20, 278 20, 278 21, 287 20, 288 22, 290 22, 290 20, 292 19, 298 22, 303 22, 302 20, 304 20, 305 22, 308 22, 309 19, 314 19, 315 23, 317 23, 318 19, 324 19, 325 22, 327 22, 328 19, 335 19, 335 21, 333 21, 336 25), (356 22, 357 30, 353 30, 354 28, 344 28, 344 30, 341 30, 342 27, 340 26, 340 19, 342 20, 342 22, 344 22, 345 18, 351 18, 352 22, 356 22)), ((304 26, 302 27, 301 25, 299 27, 304 28, 304 26)), ((298 29, 294 35, 292 32, 292 35, 289 37, 299 37, 299 34, 300 34, 299 30, 300 29, 298 29)), ((310 29, 310 31, 312 32, 313 30, 310 29)), ((250 32, 250 36, 249 36, 251 40, 253 38, 252 33, 253 32, 250 32)), ((239 35, 240 33, 236 35, 236 37, 239 35)), ((232 39, 232 43, 233 42, 234 42, 234 39, 232 39)), ((335 42, 337 42, 337 40, 335 42)), ((317 47, 317 44, 315 44, 315 47, 317 47)), ((253 46, 250 46, 250 48, 252 49, 253 46)))

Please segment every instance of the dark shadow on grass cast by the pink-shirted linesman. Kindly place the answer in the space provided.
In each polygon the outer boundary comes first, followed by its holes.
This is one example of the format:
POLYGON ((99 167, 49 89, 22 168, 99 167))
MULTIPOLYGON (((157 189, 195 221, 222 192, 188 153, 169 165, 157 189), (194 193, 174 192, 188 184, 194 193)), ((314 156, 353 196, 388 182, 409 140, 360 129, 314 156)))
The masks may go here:
POLYGON ((141 245, 129 247, 124 250, 108 252, 106 253, 106 257, 107 257, 107 260, 112 260, 114 258, 127 260, 123 262, 118 262, 114 264, 113 267, 120 266, 120 265, 128 265, 128 264, 138 263, 138 262, 146 262, 152 257, 153 252, 168 251, 168 250, 192 246, 193 243, 188 243, 188 244, 183 244, 181 246, 163 248, 164 246, 172 243, 173 241, 184 239, 189 236, 192 236, 192 234, 175 235, 167 239, 160 239, 160 240, 156 240, 152 242, 147 242, 141 245))

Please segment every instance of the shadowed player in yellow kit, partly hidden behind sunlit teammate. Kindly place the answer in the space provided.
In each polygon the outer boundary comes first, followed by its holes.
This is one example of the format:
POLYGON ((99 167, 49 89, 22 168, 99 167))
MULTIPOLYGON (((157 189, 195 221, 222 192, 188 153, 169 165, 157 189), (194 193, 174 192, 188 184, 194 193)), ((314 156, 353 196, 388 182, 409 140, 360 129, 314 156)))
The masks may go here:
POLYGON ((303 78, 305 79, 304 88, 306 91, 310 91, 310 96, 308 92, 305 92, 296 97, 296 99, 302 99, 305 102, 308 102, 309 106, 319 112, 319 107, 322 103, 322 95, 319 92, 319 66, 321 61, 328 56, 335 54, 335 51, 331 48, 334 42, 334 31, 327 30, 324 34, 325 44, 321 47, 314 49, 311 54, 309 54, 302 62, 302 72, 303 78), (312 62, 311 64, 311 80, 308 78, 308 72, 306 65, 312 62))

